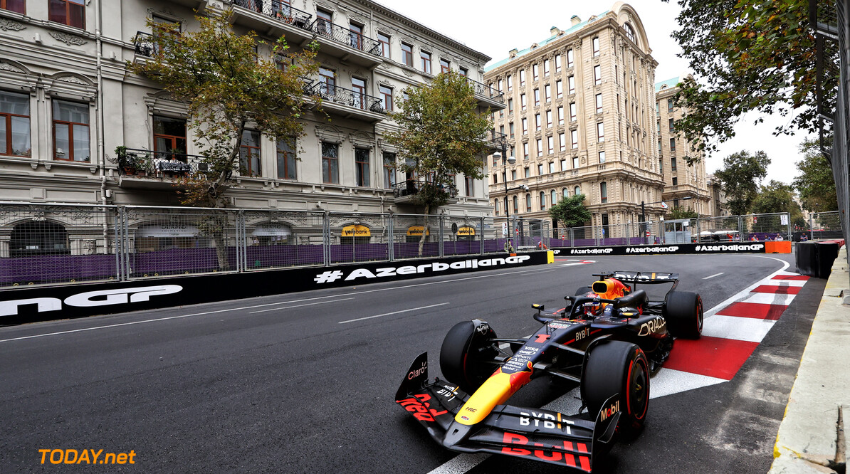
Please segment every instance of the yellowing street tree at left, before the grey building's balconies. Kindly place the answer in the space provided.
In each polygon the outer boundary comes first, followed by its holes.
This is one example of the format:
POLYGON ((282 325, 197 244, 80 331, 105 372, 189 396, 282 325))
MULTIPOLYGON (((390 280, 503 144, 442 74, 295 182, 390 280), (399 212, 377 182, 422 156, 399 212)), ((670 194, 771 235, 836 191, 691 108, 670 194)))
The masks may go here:
MULTIPOLYGON (((178 24, 148 20, 151 57, 127 62, 127 71, 150 78, 186 106, 193 144, 208 170, 176 183, 180 201, 187 206, 224 207, 235 170, 258 174, 259 157, 242 148, 246 130, 294 149, 295 138, 303 134, 302 77, 318 71, 315 43, 296 52, 283 37, 266 42, 254 31, 237 34, 229 22, 231 14, 224 10, 196 16, 200 27, 182 32, 178 24), (286 60, 275 61, 282 58, 286 60)), ((229 268, 226 225, 224 212, 201 223, 201 231, 212 236, 221 269, 229 268)))

